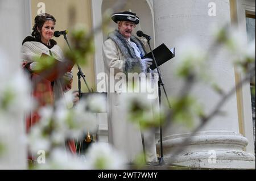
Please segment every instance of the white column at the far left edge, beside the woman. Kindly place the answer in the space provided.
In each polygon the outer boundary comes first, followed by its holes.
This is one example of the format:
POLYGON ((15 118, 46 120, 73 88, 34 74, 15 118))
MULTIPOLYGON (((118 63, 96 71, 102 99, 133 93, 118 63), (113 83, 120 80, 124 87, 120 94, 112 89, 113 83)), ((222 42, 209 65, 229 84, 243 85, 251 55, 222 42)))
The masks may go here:
MULTIPOLYGON (((0 49, 7 56, 13 73, 21 68, 20 48, 22 40, 31 32, 30 0, 0 1, 0 49)), ((7 60, 0 60, 7 61, 7 60)), ((1 87, 1 86, 0 86, 1 87)), ((16 87, 19 89, 19 87, 16 87)), ((16 113, 20 112, 19 110, 16 113)), ((0 155, 0 169, 27 169, 27 146, 25 144, 24 115, 11 116, 11 120, 0 120, 0 125, 7 122, 4 137, 1 138, 4 150, 0 155)))

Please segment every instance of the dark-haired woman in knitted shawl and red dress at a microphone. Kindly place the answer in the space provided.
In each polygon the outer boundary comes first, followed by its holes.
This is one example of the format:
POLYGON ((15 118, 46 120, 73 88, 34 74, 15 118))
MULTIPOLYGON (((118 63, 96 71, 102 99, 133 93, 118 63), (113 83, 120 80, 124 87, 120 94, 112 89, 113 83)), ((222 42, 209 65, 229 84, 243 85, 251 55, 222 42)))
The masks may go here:
MULTIPOLYGON (((40 77, 34 71, 38 64, 35 57, 42 56, 42 53, 64 61, 61 48, 52 39, 55 23, 56 19, 47 13, 36 16, 32 36, 27 36, 22 42, 22 67, 30 75, 33 85, 31 94, 37 103, 34 111, 26 118, 27 133, 40 120, 38 110, 47 105, 54 105, 56 100, 64 96, 64 92, 71 89, 73 74, 69 71, 63 77, 51 81, 40 77)), ((76 153, 74 141, 67 141, 66 145, 72 153, 76 153)))

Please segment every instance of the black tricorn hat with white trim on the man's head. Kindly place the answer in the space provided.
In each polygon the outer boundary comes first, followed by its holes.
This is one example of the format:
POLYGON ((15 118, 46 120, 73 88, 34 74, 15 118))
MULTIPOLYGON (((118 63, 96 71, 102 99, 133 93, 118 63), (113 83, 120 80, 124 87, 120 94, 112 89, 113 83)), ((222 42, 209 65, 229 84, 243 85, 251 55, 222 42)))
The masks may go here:
POLYGON ((112 14, 111 19, 117 23, 121 21, 133 22, 139 24, 139 17, 135 13, 130 11, 116 12, 112 14))

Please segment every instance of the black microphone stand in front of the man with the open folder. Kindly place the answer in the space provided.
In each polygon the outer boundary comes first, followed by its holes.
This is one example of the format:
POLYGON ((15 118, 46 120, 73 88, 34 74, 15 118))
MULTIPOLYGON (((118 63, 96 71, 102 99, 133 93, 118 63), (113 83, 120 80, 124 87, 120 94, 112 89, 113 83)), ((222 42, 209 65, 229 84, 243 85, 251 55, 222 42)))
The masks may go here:
MULTIPOLYGON (((152 58, 155 62, 155 66, 156 66, 156 70, 158 70, 158 75, 159 75, 159 80, 158 80, 158 97, 159 97, 159 107, 161 109, 161 86, 163 87, 163 90, 164 90, 164 94, 166 95, 166 99, 167 99, 167 102, 168 102, 168 106, 169 108, 171 109, 171 104, 170 104, 170 101, 168 99, 168 96, 167 96, 167 93, 166 93, 166 88, 164 87, 164 83, 163 83, 163 79, 162 79, 162 75, 160 73, 160 69, 158 68, 158 64, 156 63, 156 60, 155 60, 155 56, 154 56, 154 53, 152 51, 152 48, 151 48, 151 45, 150 45, 150 39, 151 37, 148 37, 147 38, 147 44, 150 48, 150 52, 152 54, 152 58)), ((160 115, 161 116, 161 115, 160 115)), ((165 165, 166 163, 164 162, 164 159, 163 159, 163 129, 162 129, 162 119, 160 117, 160 126, 159 126, 159 129, 160 129, 160 158, 159 158, 159 165, 165 165)))

